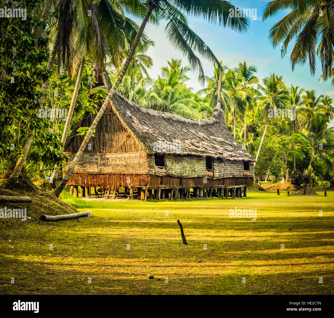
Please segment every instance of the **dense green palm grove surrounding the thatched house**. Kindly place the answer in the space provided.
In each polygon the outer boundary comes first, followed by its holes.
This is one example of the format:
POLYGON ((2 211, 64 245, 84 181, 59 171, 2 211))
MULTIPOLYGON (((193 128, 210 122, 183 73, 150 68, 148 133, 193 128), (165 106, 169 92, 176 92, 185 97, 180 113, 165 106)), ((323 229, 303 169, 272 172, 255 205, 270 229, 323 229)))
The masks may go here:
MULTIPOLYGON (((300 6, 295 1, 281 2, 269 3, 264 19, 283 9, 298 14, 293 19, 287 18, 289 14, 272 27, 273 46, 281 41, 287 45, 295 38, 294 27, 304 32, 303 38, 297 38, 292 66, 309 58, 314 72, 317 56, 312 54, 317 51, 323 67, 321 80, 327 80, 334 74, 334 36, 323 16, 333 15, 332 2, 299 1, 300 6), (315 16, 313 11, 319 7, 324 12, 314 21, 307 13, 315 16), (311 30, 308 24, 318 30, 311 30), (319 34, 321 43, 316 50, 313 35, 319 34)), ((54 180, 51 185, 58 185, 58 166, 68 160, 62 154, 68 136, 72 131, 86 136, 72 163, 74 169, 90 137, 94 138, 104 106, 92 127, 78 129, 78 122, 87 112, 96 113, 97 103, 107 105, 115 91, 143 107, 201 119, 210 117, 217 104, 219 78, 228 128, 256 158, 259 182, 269 177, 296 179, 300 174, 310 176, 311 185, 333 179, 334 129, 329 128, 334 119, 333 100, 298 83, 286 83, 282 74, 258 78, 257 66, 246 61, 224 65, 189 28, 187 14, 245 32, 247 18, 228 19, 232 4, 220 0, 32 0, 6 1, 6 5, 28 8, 26 20, 0 19, 0 168, 8 186, 26 175, 49 176, 54 180), (143 23, 138 25, 129 17, 143 23), (185 58, 171 57, 159 74, 150 77, 148 70, 154 61, 147 50, 154 42, 144 28, 146 23, 158 27, 163 21, 166 38, 185 58), (203 70, 196 54, 210 60, 212 69, 203 70), (198 71, 202 85, 198 92, 188 85, 193 70, 198 71), (99 85, 98 75, 108 87, 99 85)), ((56 195, 65 184, 66 178, 56 195)))

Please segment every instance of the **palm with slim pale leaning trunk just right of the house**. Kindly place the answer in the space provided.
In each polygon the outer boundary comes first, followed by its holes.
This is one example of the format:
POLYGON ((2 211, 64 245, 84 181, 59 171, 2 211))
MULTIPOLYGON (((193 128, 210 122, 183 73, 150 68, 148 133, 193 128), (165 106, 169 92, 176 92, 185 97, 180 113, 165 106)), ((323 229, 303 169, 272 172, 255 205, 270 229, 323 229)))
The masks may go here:
POLYGON ((284 108, 289 100, 289 92, 284 84, 283 76, 275 75, 275 73, 266 76, 263 79, 263 86, 258 84, 258 90, 263 94, 263 96, 258 96, 258 108, 261 110, 261 117, 265 119, 266 125, 255 162, 258 160, 265 139, 269 119, 272 118, 270 114, 276 114, 277 109, 284 108))

